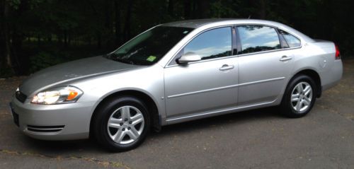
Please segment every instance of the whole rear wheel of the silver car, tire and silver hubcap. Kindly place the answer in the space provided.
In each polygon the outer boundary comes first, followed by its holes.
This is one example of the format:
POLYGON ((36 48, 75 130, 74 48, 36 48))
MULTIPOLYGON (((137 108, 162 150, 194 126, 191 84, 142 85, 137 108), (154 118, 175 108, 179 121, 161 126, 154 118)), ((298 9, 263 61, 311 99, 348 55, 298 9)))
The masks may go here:
POLYGON ((287 117, 304 117, 314 106, 316 91, 311 77, 302 74, 295 76, 285 89, 280 111, 287 117))

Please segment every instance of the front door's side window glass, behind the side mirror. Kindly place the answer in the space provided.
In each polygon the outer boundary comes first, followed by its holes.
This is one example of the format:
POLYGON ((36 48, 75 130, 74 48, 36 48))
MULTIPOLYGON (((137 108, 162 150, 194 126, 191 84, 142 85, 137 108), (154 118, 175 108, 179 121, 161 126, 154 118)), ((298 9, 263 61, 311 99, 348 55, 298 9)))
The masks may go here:
POLYGON ((231 27, 207 30, 195 37, 183 49, 183 53, 194 52, 204 59, 227 57, 231 55, 231 27))

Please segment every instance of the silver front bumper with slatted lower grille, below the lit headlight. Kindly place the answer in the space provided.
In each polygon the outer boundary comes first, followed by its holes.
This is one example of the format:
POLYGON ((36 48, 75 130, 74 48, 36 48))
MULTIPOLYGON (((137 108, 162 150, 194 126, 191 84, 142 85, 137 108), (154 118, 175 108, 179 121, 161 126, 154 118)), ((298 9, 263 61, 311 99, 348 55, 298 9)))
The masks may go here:
POLYGON ((89 138, 94 103, 36 105, 26 100, 11 100, 11 111, 26 135, 43 140, 89 138), (18 115, 16 118, 15 116, 18 115))

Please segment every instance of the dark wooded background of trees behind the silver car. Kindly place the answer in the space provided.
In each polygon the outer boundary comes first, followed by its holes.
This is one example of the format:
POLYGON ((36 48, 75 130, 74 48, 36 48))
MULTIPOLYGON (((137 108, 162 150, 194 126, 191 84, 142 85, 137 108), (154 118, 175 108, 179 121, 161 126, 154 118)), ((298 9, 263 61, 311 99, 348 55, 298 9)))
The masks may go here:
POLYGON ((0 0, 0 77, 105 54, 159 23, 195 18, 278 21, 309 37, 336 42, 342 57, 349 57, 354 52, 353 4, 351 0, 0 0))

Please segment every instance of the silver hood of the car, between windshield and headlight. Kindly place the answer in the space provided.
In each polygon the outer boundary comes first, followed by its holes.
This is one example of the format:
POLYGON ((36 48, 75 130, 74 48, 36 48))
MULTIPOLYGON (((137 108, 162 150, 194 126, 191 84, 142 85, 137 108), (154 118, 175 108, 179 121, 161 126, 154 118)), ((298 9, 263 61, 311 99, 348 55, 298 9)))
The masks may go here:
POLYGON ((38 90, 50 88, 69 81, 111 74, 118 71, 136 69, 140 66, 124 64, 102 56, 79 59, 64 64, 51 66, 29 76, 20 86, 21 93, 30 96, 38 90))

